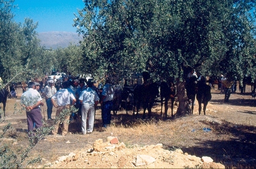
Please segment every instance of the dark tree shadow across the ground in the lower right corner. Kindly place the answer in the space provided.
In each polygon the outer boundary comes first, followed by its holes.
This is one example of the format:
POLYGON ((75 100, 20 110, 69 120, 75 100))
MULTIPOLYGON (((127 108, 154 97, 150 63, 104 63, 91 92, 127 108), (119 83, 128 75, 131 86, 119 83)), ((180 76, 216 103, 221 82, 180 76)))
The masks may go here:
MULTIPOLYGON (((199 144, 194 147, 182 147, 183 152, 198 157, 210 156, 215 162, 222 163, 226 168, 234 166, 240 168, 253 168, 256 166, 256 130, 255 126, 232 124, 223 121, 222 124, 214 124, 201 121, 210 126, 210 132, 216 135, 230 135, 226 140, 202 140, 195 139, 199 144)), ((209 134, 210 134, 209 132, 209 134)), ((173 145, 164 145, 172 149, 173 145)))

